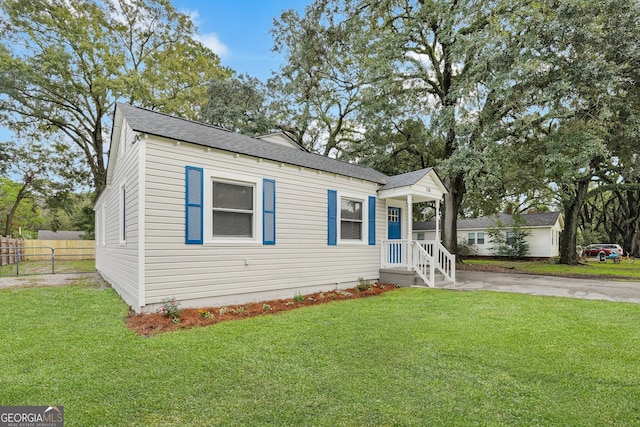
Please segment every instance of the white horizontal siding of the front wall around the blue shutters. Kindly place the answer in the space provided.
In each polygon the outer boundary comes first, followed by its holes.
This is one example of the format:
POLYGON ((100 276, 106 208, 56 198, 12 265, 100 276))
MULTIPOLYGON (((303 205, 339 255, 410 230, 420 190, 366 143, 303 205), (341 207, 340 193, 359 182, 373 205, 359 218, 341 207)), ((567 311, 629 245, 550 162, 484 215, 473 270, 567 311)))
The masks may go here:
MULTIPOLYGON (((231 304, 378 278, 380 246, 367 244, 366 217, 363 243, 327 244, 327 191, 357 195, 366 205, 368 196, 376 195, 375 183, 154 137, 147 140, 145 163, 147 304, 168 297, 183 306, 231 304), (205 180, 216 174, 275 180, 276 245, 263 246, 261 235, 256 243, 207 242, 207 215, 205 244, 186 245, 185 166, 204 168, 205 180)), ((259 201, 255 208, 261 221, 259 201)), ((210 209, 206 202, 204 209, 210 209)), ((376 211, 379 242, 386 237, 386 206, 380 200, 376 211)))

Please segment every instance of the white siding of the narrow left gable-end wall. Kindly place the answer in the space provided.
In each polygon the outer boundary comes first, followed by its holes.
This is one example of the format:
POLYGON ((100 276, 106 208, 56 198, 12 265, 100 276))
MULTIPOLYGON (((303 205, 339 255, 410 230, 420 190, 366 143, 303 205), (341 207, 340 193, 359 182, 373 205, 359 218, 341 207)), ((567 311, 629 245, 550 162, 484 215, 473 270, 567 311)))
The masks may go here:
POLYGON ((124 126, 117 144, 117 150, 110 156, 109 168, 113 181, 108 183, 96 203, 96 268, 104 279, 134 309, 142 302, 139 300, 138 283, 138 152, 140 143, 133 143, 134 133, 124 126), (121 189, 126 192, 126 242, 122 242, 120 229, 121 189), (98 229, 100 231, 98 231, 98 229))

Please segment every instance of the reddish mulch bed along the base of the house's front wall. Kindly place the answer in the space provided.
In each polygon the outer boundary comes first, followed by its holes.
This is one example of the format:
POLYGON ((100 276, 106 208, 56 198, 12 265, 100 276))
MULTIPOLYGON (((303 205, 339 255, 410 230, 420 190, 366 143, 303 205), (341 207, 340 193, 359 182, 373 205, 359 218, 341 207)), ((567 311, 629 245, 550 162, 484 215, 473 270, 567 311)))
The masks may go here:
POLYGON ((228 320, 247 319, 263 314, 276 314, 281 311, 295 310, 300 307, 309 307, 332 301, 370 297, 393 289, 396 289, 395 285, 377 283, 364 291, 358 288, 351 288, 330 292, 316 292, 304 295, 303 300, 300 302, 295 301, 293 298, 287 298, 225 307, 184 308, 180 311, 180 321, 177 323, 174 323, 171 318, 165 317, 161 313, 131 314, 127 319, 127 327, 138 335, 148 337, 176 329, 208 326, 228 320), (209 315, 206 313, 209 313, 209 315))

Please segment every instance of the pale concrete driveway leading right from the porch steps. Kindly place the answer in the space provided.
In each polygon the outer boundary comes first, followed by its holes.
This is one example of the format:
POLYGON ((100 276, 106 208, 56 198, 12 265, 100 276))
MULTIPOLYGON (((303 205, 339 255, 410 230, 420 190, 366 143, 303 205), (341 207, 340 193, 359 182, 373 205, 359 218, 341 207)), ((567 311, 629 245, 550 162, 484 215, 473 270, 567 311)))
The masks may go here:
POLYGON ((458 270, 456 271, 456 284, 443 286, 442 289, 516 292, 530 295, 548 295, 640 304, 640 282, 615 282, 602 279, 572 279, 530 274, 486 273, 458 270))

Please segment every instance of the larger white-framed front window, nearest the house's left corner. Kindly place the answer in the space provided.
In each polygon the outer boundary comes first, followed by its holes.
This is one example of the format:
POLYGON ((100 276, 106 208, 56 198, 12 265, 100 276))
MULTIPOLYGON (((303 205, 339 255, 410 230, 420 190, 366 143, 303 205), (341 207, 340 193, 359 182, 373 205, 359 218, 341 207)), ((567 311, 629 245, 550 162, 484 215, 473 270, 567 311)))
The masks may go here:
POLYGON ((214 238, 254 238, 255 185, 214 179, 212 235, 214 238))

